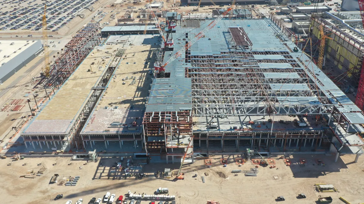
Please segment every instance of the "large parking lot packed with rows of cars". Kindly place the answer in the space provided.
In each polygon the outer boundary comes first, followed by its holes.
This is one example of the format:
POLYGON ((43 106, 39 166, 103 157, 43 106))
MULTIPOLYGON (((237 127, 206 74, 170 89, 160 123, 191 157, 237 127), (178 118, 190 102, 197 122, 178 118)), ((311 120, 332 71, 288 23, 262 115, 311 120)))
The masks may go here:
POLYGON ((58 31, 83 9, 93 11, 98 0, 4 0, 0 1, 0 30, 40 30, 46 5, 47 30, 58 31))

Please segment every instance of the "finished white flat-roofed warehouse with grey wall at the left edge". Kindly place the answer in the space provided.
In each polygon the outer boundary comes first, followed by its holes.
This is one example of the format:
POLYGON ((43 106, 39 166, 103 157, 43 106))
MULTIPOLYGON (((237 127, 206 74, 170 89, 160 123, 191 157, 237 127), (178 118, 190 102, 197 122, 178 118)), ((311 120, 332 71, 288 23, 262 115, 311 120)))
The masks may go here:
POLYGON ((0 40, 0 84, 43 50, 40 40, 0 40))

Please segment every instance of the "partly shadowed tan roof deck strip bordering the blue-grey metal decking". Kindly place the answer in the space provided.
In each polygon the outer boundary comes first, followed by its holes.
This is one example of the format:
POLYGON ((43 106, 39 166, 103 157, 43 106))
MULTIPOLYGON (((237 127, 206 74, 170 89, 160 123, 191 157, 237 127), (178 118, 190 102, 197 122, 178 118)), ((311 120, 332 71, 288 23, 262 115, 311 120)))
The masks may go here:
POLYGON ((124 47, 120 45, 119 49, 126 49, 124 54, 126 57, 115 70, 106 93, 91 113, 81 134, 103 132, 132 134, 142 131, 141 122, 152 78, 149 69, 154 65, 151 60, 151 46, 158 43, 158 37, 153 35, 110 36, 107 42, 113 43, 117 40, 129 40, 133 45, 124 47), (135 82, 132 84, 132 81, 135 82), (137 126, 132 126, 134 120, 137 126), (131 128, 128 128, 128 125, 131 128))

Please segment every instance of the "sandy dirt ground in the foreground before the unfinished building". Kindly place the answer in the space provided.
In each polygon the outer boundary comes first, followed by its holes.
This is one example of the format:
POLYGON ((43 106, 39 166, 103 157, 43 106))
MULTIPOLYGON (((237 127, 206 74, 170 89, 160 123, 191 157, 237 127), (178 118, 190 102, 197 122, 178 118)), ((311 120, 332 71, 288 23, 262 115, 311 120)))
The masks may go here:
MULTIPOLYGON (((259 167, 258 175, 244 176, 239 173, 234 176, 232 170, 250 170, 255 165, 247 162, 239 167, 234 161, 241 158, 240 155, 215 155, 211 168, 205 166, 204 160, 195 160, 194 164, 184 164, 182 172, 185 173, 185 180, 173 180, 156 178, 156 171, 163 171, 164 168, 174 168, 174 175, 177 174, 179 164, 151 163, 144 166, 143 171, 146 178, 125 179, 123 175, 108 174, 110 165, 119 158, 98 158, 95 162, 84 165, 84 161, 72 161, 70 158, 25 158, 14 161, 12 166, 7 166, 11 159, 0 160, 0 182, 8 184, 6 188, 0 189, 0 196, 3 203, 29 203, 29 204, 64 204, 67 200, 75 203, 83 198, 84 203, 92 197, 102 198, 106 192, 124 195, 130 190, 136 193, 153 194, 158 187, 167 187, 169 195, 175 195, 177 203, 204 204, 207 200, 219 201, 221 204, 250 204, 250 203, 277 203, 277 196, 284 196, 285 201, 280 203, 314 203, 319 196, 331 196, 333 204, 341 204, 340 196, 343 196, 351 203, 363 203, 363 174, 364 157, 359 158, 358 163, 353 163, 355 156, 341 156, 337 163, 334 163, 334 156, 324 155, 290 155, 292 166, 288 167, 282 159, 275 159, 276 168, 259 167), (228 159, 227 167, 221 164, 221 158, 228 159), (297 162, 305 158, 308 166, 300 167, 297 162), (316 165, 315 159, 322 159, 324 167, 316 165), (103 163, 99 166, 100 161, 103 163), (38 163, 41 166, 37 166, 38 163), (53 166, 53 163, 57 163, 53 166), (27 163, 26 166, 22 166, 27 163), (315 164, 313 166, 313 164, 315 164), (28 171, 37 172, 42 166, 48 168, 43 175, 35 179, 19 178, 28 171), (81 169, 80 169, 81 167, 81 169), (205 176, 204 173, 208 173, 205 176), (49 184, 52 175, 80 176, 76 186, 59 186, 49 184), (194 178, 194 175, 197 177, 194 178), (205 183, 202 183, 201 176, 204 176, 205 183), (278 179, 274 179, 277 176, 278 179), (333 184, 339 192, 319 193, 314 189, 314 184, 333 184), (63 193, 63 199, 54 201, 54 197, 63 193), (299 193, 305 193, 306 199, 297 199, 299 193)), ((137 160, 134 161, 134 163, 137 160)), ((124 159, 125 165, 126 159, 124 159)), ((149 204, 150 201, 142 201, 142 204, 149 204)))

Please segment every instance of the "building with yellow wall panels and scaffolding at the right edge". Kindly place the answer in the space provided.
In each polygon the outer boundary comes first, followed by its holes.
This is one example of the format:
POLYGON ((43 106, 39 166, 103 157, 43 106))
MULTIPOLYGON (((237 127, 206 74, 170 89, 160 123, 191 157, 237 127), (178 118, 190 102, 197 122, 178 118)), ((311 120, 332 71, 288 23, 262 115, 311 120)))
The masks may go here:
POLYGON ((346 79, 349 83, 345 86, 345 92, 356 94, 364 56, 364 30, 360 12, 324 12, 312 15, 310 21, 314 42, 321 39, 320 25, 323 26, 324 33, 332 38, 326 40, 325 56, 335 70, 336 67, 339 69, 330 78, 339 84, 343 83, 342 79, 346 79))

